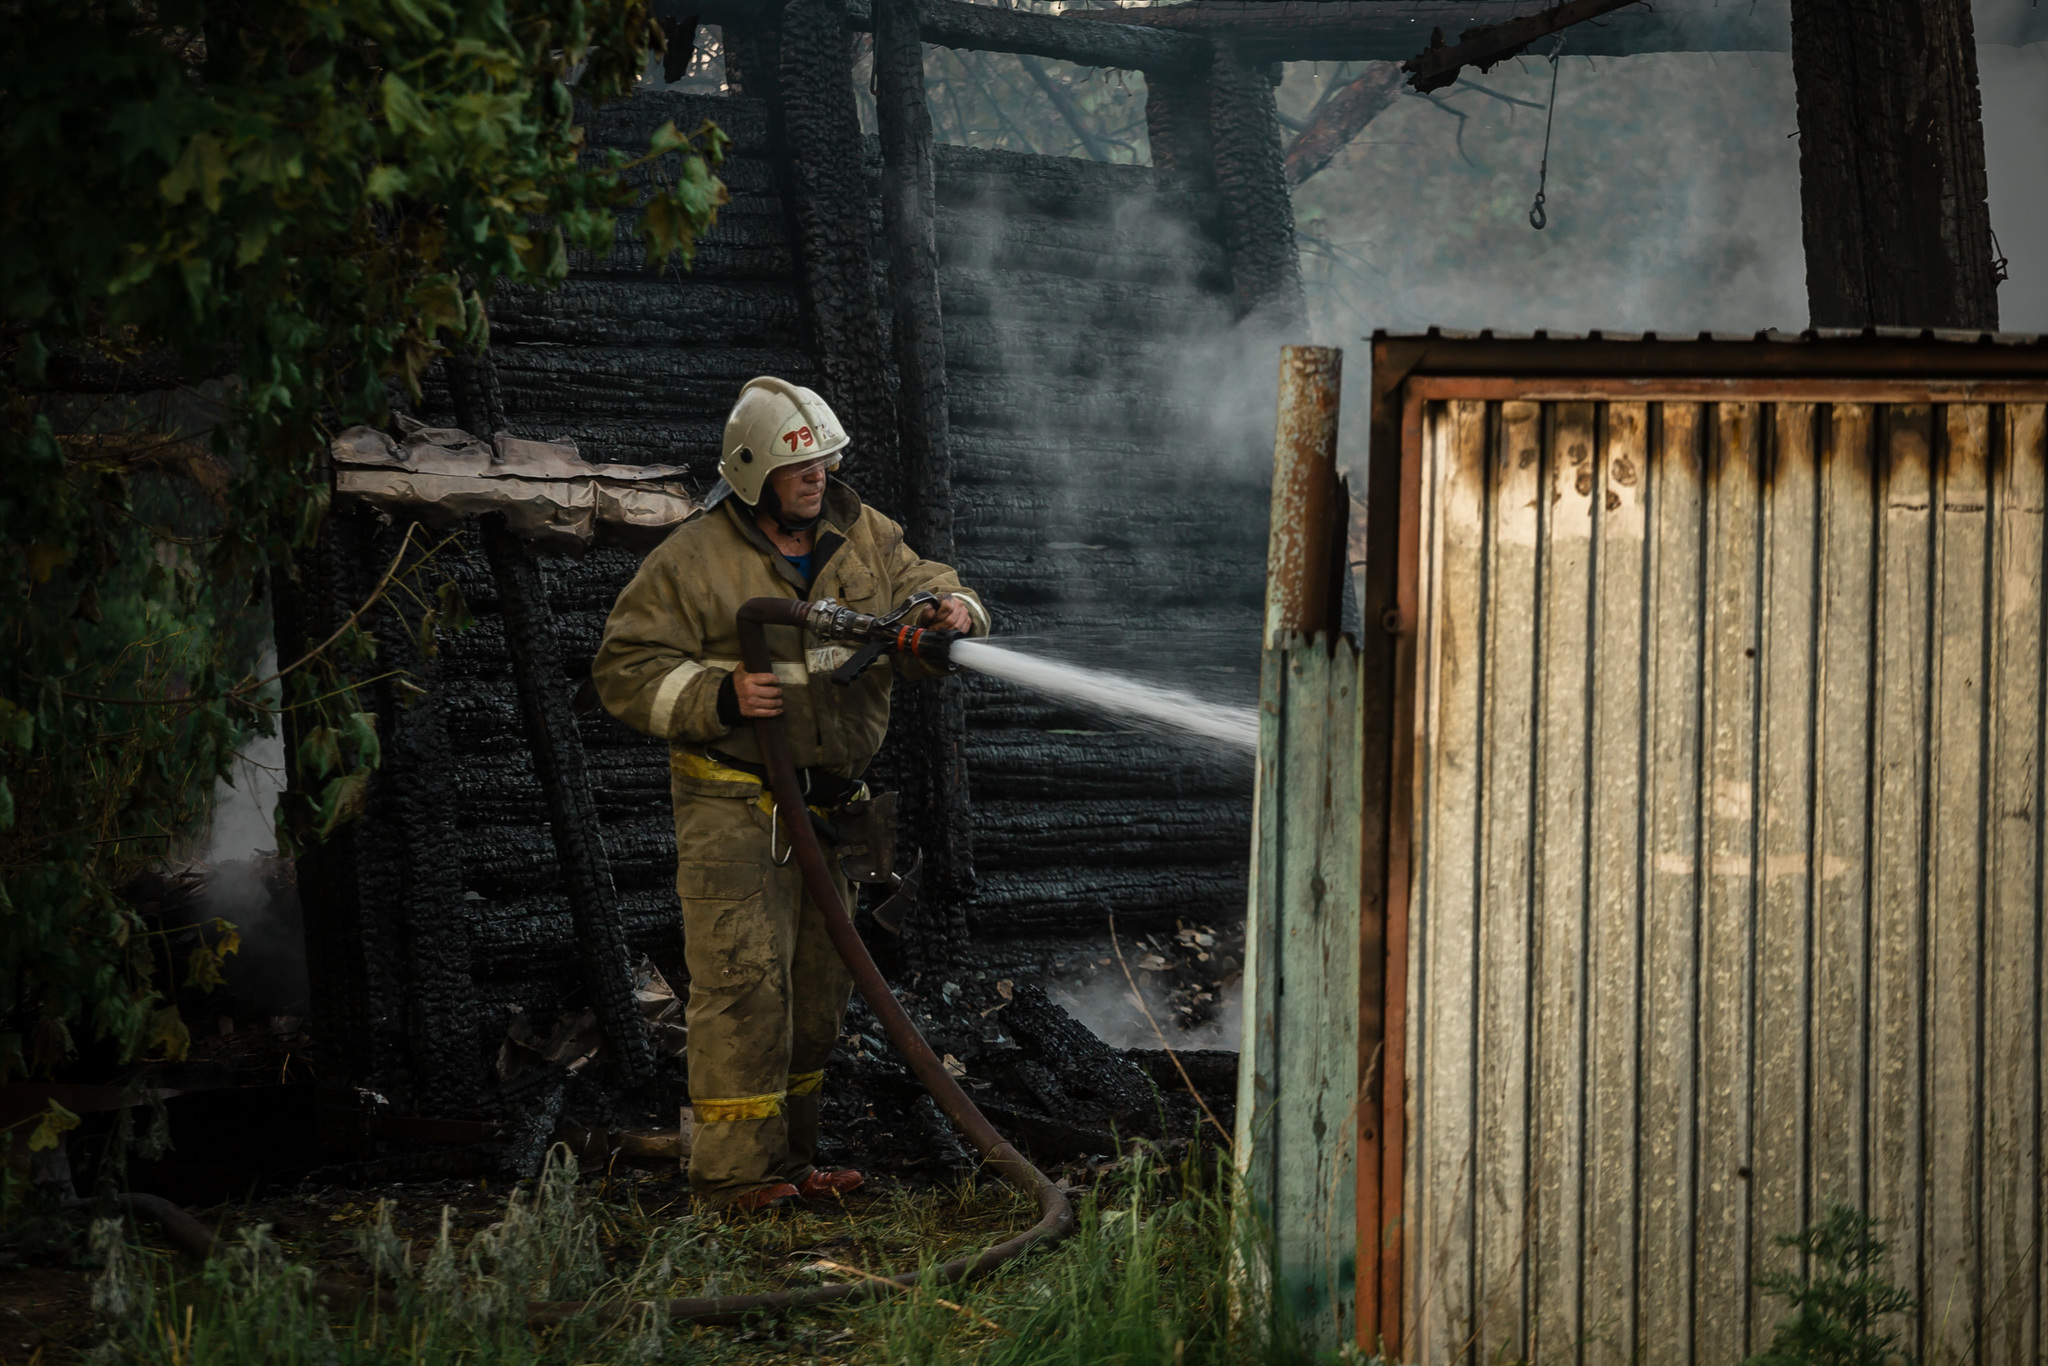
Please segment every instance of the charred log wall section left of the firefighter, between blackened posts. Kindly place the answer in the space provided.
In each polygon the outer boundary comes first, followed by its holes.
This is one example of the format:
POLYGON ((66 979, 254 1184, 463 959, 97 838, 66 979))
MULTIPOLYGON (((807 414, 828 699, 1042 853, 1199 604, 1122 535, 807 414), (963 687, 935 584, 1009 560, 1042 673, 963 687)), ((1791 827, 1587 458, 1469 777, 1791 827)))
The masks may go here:
MULTIPOLYGON (((664 121, 688 129, 707 117, 733 137, 719 170, 731 203, 690 270, 649 272, 621 225, 610 256, 571 256, 561 289, 492 303, 510 430, 571 436, 592 461, 682 465, 709 485, 739 385, 762 373, 815 379, 766 102, 649 92, 594 111, 586 129, 596 150, 637 152, 664 121)), ((604 616, 637 565, 616 549, 541 561, 565 690, 588 680, 604 616)), ((582 1004, 575 932, 520 723, 498 586, 481 553, 461 578, 477 627, 453 643, 442 672, 477 995, 496 1018, 522 1008, 547 1020, 569 999, 582 1004)), ((590 707, 578 725, 631 948, 682 981, 668 748, 590 707)), ((489 1040, 500 1034, 502 1026, 489 1030, 489 1040)))

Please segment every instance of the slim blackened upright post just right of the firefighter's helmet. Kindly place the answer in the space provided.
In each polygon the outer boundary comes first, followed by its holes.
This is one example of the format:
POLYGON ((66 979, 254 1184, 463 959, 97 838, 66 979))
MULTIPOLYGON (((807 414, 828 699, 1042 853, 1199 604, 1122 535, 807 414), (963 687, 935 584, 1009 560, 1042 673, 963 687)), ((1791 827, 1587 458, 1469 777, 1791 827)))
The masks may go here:
MULTIPOLYGON (((889 242, 889 309, 897 362, 899 487, 909 545, 954 559, 952 455, 946 416, 946 334, 938 307, 938 240, 932 113, 924 98, 924 39, 915 0, 874 4, 874 111, 883 145, 883 231, 889 242)), ((938 680, 899 694, 899 774, 911 788, 909 823, 924 852, 922 934, 944 946, 967 938, 975 891, 967 788, 967 711, 958 684, 938 680), (932 926, 940 920, 940 926, 932 926)), ((932 956, 932 954, 924 954, 932 956)))

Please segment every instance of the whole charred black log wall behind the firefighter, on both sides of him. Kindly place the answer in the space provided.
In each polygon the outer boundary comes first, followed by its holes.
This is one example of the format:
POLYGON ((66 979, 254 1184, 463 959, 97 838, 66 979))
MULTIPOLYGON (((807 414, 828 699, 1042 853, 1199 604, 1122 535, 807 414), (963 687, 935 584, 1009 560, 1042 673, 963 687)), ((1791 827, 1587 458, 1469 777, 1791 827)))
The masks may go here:
MULTIPOLYGON (((770 102, 649 92, 596 111, 586 127, 594 150, 637 150, 668 119, 694 127, 705 117, 733 137, 721 168, 731 203, 690 270, 651 274, 623 229, 608 258, 575 254, 559 291, 494 301, 492 358, 510 430, 569 436, 596 461, 682 465, 709 485, 723 416, 748 377, 827 383, 805 295, 805 227, 788 207, 795 178, 780 166, 770 102)), ((856 213, 866 211, 881 262, 872 141, 864 154, 868 203, 856 201, 856 213)), ((938 147, 936 213, 956 555, 1001 633, 1079 631, 1120 651, 1235 661, 1249 680, 1264 461, 1255 440, 1247 449, 1243 432, 1219 426, 1214 385, 1188 362, 1190 348, 1227 336, 1235 315, 1212 180, 938 147)), ((877 295, 885 299, 887 285, 877 295)), ((885 315, 877 328, 887 326, 885 315)), ((422 416, 455 420, 451 395, 430 389, 422 416)), ((848 463, 856 487, 872 479, 885 506, 895 473, 864 477, 848 463)), ((354 547, 350 559, 350 547, 336 541, 328 557, 348 561, 354 578, 373 573, 367 551, 354 547)), ((637 555, 618 549, 543 561, 563 690, 588 678, 604 616, 635 567, 637 555)), ((393 1100, 420 1112, 487 1094, 487 1065, 514 1010, 545 1024, 588 1004, 498 584, 475 535, 446 551, 444 571, 461 582, 477 625, 440 651, 430 719, 444 756, 416 776, 453 809, 451 932, 436 938, 414 924, 422 897, 387 905, 367 870, 309 893, 309 922, 340 936, 338 950, 342 940, 440 944, 467 961, 461 1030, 391 1010, 385 997, 414 995, 406 983, 420 973, 387 963, 383 948, 375 963, 358 948, 313 965, 328 977, 334 1030, 367 1034, 358 1051, 391 1059, 373 1067, 365 1057, 358 1075, 418 1077, 393 1100), (391 1038, 373 1042, 377 1030, 391 1038), (440 1057, 451 1049, 469 1067, 440 1057), (424 1083, 428 1073, 465 1071, 465 1085, 424 1083)), ((340 602, 348 586, 336 580, 328 592, 340 602)), ((1241 913, 1247 762, 1112 729, 981 678, 967 678, 965 692, 977 936, 1092 932, 1106 909, 1126 924, 1241 913)), ((578 727, 631 950, 680 981, 666 748, 594 709, 578 727)), ((422 819, 391 782, 379 793, 365 831, 395 836, 393 821, 422 819)), ((375 850, 367 856, 375 862, 375 850)), ((438 965, 446 954, 426 956, 438 965)), ((449 967, 461 977, 461 965, 449 967)), ((438 983, 428 977, 416 987, 438 983)), ((438 1004, 446 991, 426 995, 438 1004)))

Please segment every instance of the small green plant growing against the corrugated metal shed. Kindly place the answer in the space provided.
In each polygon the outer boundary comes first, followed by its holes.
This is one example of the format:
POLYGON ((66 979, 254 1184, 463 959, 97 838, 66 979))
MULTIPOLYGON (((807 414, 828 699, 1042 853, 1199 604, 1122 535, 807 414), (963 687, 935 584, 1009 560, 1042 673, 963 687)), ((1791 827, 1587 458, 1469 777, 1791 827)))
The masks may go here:
POLYGON ((1872 1270, 1888 1247, 1876 1227, 1870 1214, 1833 1204, 1821 1223, 1776 1239, 1800 1253, 1802 1270, 1757 1278, 1792 1315, 1747 1366, 1911 1366, 1898 1333, 1884 1331, 1884 1321, 1911 1315, 1913 1294, 1872 1270))

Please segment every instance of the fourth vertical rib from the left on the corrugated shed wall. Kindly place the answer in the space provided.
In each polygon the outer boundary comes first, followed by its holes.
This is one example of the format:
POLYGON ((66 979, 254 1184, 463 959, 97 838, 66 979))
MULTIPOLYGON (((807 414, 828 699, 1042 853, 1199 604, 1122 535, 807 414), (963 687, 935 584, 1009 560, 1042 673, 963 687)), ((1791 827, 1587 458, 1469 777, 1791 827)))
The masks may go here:
POLYGON ((1612 403, 1593 510, 1583 1360, 1636 1360, 1636 1085, 1642 944, 1642 676, 1649 405, 1612 403))

